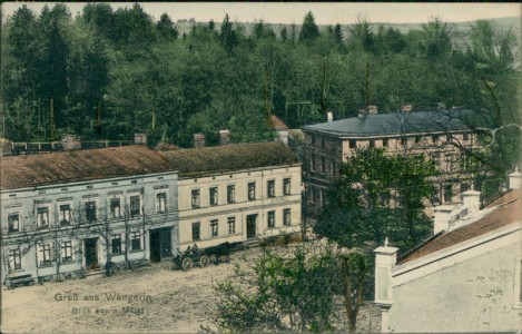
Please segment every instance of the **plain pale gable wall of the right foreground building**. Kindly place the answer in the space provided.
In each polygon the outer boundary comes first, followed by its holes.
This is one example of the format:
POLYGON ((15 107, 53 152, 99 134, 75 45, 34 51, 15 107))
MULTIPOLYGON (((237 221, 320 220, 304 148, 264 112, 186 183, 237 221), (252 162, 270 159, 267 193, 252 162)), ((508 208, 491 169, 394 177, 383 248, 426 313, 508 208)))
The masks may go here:
POLYGON ((395 286, 391 332, 520 331, 513 295, 521 255, 520 242, 512 243, 395 286))

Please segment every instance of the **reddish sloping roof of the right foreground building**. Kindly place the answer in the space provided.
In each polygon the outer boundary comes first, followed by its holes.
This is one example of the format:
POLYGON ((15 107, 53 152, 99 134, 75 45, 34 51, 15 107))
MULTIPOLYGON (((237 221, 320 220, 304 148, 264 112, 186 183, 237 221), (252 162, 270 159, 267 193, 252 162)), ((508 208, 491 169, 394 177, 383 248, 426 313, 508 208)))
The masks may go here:
POLYGON ((522 189, 510 190, 490 204, 487 208, 493 208, 495 206, 498 207, 493 212, 489 213, 475 223, 447 233, 435 235, 413 252, 406 254, 397 262, 397 264, 405 264, 437 250, 442 250, 450 246, 457 245, 471 238, 493 232, 503 226, 520 223, 522 219, 522 189))

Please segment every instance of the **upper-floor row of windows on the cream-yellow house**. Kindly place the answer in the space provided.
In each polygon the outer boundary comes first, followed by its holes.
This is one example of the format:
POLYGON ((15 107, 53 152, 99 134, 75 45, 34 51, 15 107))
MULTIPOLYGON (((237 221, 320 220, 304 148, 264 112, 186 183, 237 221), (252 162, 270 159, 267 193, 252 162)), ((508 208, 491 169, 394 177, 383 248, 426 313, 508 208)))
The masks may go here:
MULTIPOLYGON (((266 183, 266 194, 268 198, 276 197, 276 181, 274 179, 268 180, 266 183)), ((200 207, 200 189, 193 189, 191 190, 191 206, 193 208, 200 207)), ((218 187, 210 187, 208 189, 208 204, 210 206, 216 206, 219 204, 218 200, 218 187)), ((290 195, 290 179, 285 178, 283 179, 283 195, 290 195)), ((248 193, 247 193, 248 200, 255 200, 256 196, 256 183, 248 183, 248 193)), ((227 186, 227 204, 236 203, 236 186, 228 185, 227 186)))

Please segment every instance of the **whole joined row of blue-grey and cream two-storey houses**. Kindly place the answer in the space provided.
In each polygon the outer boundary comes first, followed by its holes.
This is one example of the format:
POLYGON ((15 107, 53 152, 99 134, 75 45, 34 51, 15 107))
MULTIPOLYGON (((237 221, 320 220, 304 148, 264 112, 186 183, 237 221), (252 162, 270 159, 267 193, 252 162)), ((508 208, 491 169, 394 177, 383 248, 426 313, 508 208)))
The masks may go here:
POLYGON ((2 283, 301 232, 301 163, 280 143, 139 145, 1 163, 2 283))

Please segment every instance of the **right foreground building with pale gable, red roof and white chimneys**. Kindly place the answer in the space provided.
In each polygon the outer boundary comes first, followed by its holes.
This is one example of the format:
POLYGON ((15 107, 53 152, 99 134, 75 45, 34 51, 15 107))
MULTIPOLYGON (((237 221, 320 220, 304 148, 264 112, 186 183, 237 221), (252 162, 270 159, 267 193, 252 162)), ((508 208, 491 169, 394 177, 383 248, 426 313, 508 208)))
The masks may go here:
MULTIPOLYGON (((512 174, 511 185, 520 178, 512 174)), ((375 249, 383 333, 521 330, 522 189, 483 209, 480 193, 463 196, 435 214, 435 235, 398 261, 395 247, 375 249)))

